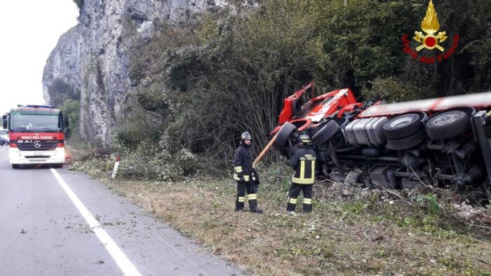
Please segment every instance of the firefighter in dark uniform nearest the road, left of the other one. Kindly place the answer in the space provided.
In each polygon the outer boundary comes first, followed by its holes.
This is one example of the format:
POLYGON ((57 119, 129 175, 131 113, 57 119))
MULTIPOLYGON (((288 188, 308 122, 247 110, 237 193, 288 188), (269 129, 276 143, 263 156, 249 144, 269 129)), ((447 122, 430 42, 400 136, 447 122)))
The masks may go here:
POLYGON ((241 134, 241 145, 235 151, 234 156, 234 179, 237 181, 237 197, 235 210, 243 211, 244 201, 248 200, 250 212, 262 213, 257 207, 257 184, 259 175, 253 167, 253 151, 250 144, 253 139, 249 132, 241 134), (247 192, 247 195, 245 194, 247 192))

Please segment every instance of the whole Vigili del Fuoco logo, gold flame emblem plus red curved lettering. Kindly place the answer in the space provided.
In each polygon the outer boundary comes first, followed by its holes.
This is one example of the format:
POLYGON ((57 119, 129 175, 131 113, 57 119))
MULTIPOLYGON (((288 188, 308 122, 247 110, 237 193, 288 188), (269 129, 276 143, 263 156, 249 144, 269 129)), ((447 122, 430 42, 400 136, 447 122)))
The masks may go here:
POLYGON ((421 22, 421 29, 423 32, 415 31, 415 36, 412 37, 418 42, 418 46, 415 49, 410 46, 409 34, 405 34, 402 37, 404 53, 410 55, 414 60, 428 64, 441 62, 442 60, 447 60, 459 45, 459 35, 454 34, 452 46, 445 51, 445 41, 448 39, 447 32, 440 30, 440 23, 438 23, 435 7, 431 0, 428 8, 426 8, 426 16, 421 22), (419 51, 422 49, 436 51, 436 55, 419 55, 419 51))

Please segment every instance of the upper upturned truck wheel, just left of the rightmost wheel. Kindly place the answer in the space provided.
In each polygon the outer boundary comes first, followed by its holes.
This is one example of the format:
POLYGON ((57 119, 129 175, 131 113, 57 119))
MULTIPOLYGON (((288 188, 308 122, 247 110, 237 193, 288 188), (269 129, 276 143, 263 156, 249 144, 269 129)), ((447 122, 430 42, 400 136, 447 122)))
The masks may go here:
POLYGON ((417 113, 407 113, 391 118, 383 126, 387 139, 403 139, 415 134, 422 128, 423 123, 417 113))

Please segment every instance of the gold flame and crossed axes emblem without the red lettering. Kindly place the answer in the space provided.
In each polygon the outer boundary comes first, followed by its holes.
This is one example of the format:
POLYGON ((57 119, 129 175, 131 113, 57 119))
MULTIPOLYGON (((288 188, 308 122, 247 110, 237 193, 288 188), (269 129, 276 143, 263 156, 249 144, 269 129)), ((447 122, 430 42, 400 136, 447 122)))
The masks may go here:
POLYGON ((421 22, 421 29, 426 35, 424 35, 423 32, 416 31, 416 35, 412 37, 415 41, 422 43, 422 45, 417 46, 417 51, 422 50, 423 48, 428 50, 437 48, 442 52, 445 50, 445 48, 438 45, 438 43, 445 41, 448 36, 445 36, 445 34, 447 34, 446 32, 438 32, 440 24, 438 23, 438 18, 436 18, 436 11, 431 0, 426 9, 426 16, 424 17, 423 22, 421 22), (436 34, 436 32, 438 32, 438 34, 436 34))

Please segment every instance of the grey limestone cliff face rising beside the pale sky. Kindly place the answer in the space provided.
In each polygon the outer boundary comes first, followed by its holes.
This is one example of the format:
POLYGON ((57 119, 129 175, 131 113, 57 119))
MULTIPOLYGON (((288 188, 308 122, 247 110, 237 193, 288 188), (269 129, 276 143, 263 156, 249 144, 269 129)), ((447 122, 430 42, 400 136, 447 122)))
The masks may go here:
POLYGON ((79 24, 60 37, 44 67, 46 102, 49 85, 56 79, 73 85, 81 95, 81 135, 91 143, 111 144, 112 132, 124 118, 125 95, 135 89, 128 71, 132 42, 152 35, 154 22, 180 22, 232 2, 238 1, 85 0, 79 24))

